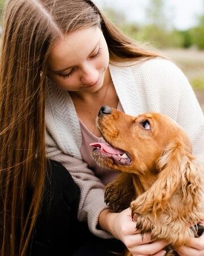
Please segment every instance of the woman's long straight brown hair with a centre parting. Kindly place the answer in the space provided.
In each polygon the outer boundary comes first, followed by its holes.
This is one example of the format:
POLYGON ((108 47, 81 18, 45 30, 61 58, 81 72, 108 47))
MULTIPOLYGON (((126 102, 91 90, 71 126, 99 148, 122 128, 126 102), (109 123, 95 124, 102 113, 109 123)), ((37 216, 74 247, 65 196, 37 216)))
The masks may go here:
POLYGON ((125 36, 89 0, 7 0, 0 67, 0 255, 24 256, 46 176, 46 61, 63 35, 98 26, 110 60, 158 56, 125 36), (31 201, 26 202, 28 188, 31 201), (28 208, 25 207, 28 205, 28 208))

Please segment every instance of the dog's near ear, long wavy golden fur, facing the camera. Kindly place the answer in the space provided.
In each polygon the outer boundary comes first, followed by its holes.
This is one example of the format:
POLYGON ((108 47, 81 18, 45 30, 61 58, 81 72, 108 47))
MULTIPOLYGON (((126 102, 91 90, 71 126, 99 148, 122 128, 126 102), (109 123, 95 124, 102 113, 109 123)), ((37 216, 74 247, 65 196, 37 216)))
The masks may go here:
POLYGON ((131 204, 134 213, 151 212, 156 218, 178 190, 182 193, 186 209, 192 208, 201 199, 198 195, 201 194, 200 170, 184 143, 172 141, 165 147, 158 161, 158 170, 158 179, 152 187, 131 204))

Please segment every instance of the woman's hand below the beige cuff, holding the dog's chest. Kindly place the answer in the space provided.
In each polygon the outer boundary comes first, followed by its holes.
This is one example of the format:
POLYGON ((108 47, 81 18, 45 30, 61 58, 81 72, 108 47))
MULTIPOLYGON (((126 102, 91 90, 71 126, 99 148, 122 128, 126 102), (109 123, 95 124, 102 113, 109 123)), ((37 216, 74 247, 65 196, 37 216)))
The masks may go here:
POLYGON ((101 228, 112 233, 114 237, 121 240, 133 256, 163 256, 163 248, 167 243, 163 241, 152 242, 151 234, 144 234, 143 238, 135 228, 136 223, 131 218, 130 208, 120 213, 110 213, 104 210, 99 217, 101 228))

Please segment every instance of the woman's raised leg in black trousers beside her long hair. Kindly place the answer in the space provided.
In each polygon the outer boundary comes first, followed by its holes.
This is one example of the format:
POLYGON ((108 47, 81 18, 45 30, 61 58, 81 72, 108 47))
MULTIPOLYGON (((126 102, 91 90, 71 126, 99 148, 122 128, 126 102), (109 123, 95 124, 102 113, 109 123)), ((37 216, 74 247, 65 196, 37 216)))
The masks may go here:
POLYGON ((44 251, 45 255, 67 255, 67 250, 74 251, 75 248, 71 249, 72 245, 67 243, 67 237, 72 236, 74 229, 79 226, 79 194, 79 188, 66 168, 49 160, 31 255, 37 255, 40 251, 44 251))

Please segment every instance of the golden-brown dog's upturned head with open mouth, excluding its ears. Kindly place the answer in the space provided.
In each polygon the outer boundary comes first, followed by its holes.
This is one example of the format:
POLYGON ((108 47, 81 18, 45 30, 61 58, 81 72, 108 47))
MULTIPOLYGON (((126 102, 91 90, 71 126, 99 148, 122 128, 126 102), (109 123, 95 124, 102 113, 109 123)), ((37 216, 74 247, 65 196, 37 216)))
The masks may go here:
POLYGON ((192 146, 182 128, 170 117, 145 113, 137 117, 103 106, 96 119, 107 142, 91 143, 92 157, 101 166, 123 172, 156 170, 160 156, 169 147, 190 152, 192 146))

